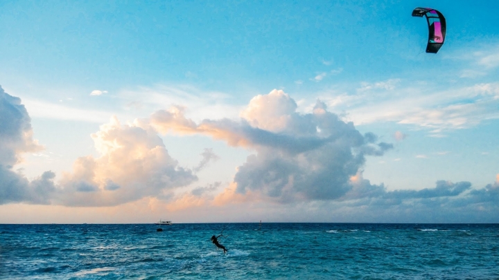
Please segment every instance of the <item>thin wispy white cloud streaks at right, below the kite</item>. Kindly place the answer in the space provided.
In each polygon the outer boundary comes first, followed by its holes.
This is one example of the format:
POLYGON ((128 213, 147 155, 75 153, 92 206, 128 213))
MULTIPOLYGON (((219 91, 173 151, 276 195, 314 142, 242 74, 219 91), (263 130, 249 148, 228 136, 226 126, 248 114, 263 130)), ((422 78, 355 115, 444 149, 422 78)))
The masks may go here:
POLYGON ((407 83, 398 79, 363 83, 356 92, 321 95, 336 111, 346 111, 356 125, 397 122, 426 129, 436 137, 499 118, 497 82, 432 91, 428 91, 430 84, 407 83))

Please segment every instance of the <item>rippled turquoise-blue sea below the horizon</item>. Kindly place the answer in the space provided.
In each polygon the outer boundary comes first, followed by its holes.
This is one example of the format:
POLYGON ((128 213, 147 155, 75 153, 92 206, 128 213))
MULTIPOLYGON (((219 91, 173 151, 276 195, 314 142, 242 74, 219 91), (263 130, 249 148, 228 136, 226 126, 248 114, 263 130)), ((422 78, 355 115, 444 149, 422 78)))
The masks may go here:
POLYGON ((499 279, 498 224, 162 228, 0 225, 0 279, 499 279))

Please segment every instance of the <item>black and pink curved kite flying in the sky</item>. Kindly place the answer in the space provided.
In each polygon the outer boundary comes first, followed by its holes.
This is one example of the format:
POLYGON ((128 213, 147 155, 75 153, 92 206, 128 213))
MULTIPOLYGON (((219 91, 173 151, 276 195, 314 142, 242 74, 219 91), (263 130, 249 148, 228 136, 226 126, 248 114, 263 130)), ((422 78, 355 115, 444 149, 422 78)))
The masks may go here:
POLYGON ((428 45, 426 53, 437 53, 444 44, 446 33, 446 21, 441 12, 432 8, 415 8, 412 17, 426 16, 428 21, 428 45))

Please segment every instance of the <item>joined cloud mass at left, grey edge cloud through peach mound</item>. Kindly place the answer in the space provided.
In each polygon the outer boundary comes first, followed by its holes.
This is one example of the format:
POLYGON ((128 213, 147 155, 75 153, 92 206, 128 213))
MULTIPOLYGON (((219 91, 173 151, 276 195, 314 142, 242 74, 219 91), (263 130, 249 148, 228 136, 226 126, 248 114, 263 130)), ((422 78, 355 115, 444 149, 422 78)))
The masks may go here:
MULTIPOLYGON (((157 131, 138 123, 121 124, 113 117, 91 135, 100 156, 78 158, 57 184, 52 171, 29 181, 12 167, 22 153, 42 147, 33 140, 21 100, 1 88, 0 120, 0 204, 119 205, 147 196, 168 197, 173 189, 198 179, 169 156, 157 131)), ((216 158, 209 149, 202 155, 198 169, 216 158)))

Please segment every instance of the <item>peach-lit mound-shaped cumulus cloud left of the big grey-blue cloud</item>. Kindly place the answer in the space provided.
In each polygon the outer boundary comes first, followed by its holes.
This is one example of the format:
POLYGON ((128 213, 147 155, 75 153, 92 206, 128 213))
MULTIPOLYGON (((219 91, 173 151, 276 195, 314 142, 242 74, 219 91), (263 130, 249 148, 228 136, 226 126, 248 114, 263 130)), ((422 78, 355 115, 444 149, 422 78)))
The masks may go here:
POLYGON ((54 198, 71 206, 119 205, 146 196, 161 196, 197 180, 190 169, 170 157, 157 132, 113 117, 91 135, 98 158, 78 158, 63 174, 54 198))

